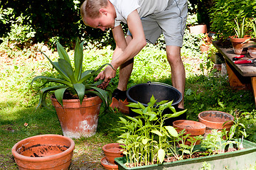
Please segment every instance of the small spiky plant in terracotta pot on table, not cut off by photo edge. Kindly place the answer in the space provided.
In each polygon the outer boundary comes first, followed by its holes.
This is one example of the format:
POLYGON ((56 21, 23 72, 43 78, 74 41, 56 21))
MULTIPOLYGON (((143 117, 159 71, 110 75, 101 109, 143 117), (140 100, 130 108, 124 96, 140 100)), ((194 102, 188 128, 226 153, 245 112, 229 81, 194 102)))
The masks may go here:
POLYGON ((239 23, 238 18, 236 18, 235 24, 235 35, 230 37, 230 41, 236 55, 245 55, 247 48, 242 48, 242 42, 244 42, 247 38, 250 38, 249 35, 245 35, 245 18, 242 19, 242 23, 239 23))

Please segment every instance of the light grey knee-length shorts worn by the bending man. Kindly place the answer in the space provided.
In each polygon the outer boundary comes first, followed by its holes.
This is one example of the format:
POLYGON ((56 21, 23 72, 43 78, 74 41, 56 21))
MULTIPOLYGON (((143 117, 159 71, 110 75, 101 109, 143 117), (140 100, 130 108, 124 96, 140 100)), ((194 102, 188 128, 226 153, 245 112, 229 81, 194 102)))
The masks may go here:
POLYGON ((163 33, 166 45, 182 47, 187 14, 187 0, 170 0, 165 11, 142 18, 146 41, 154 44, 163 33))

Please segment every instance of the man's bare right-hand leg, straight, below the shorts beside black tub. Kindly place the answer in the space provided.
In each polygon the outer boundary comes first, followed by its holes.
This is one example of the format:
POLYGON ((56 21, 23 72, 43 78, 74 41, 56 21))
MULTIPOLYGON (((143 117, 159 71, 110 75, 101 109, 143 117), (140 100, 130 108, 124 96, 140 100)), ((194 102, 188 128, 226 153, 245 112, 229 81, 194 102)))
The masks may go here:
POLYGON ((167 45, 166 46, 167 60, 171 66, 171 81, 172 85, 182 94, 182 101, 178 103, 178 108, 184 108, 184 90, 186 73, 183 62, 181 60, 181 47, 167 45))

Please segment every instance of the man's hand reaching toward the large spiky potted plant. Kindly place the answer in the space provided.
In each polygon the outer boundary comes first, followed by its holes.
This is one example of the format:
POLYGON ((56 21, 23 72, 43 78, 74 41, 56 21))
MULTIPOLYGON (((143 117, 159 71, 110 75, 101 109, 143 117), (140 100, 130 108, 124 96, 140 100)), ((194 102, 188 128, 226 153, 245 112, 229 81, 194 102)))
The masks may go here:
POLYGON ((106 89, 107 85, 110 83, 110 80, 116 76, 116 71, 112 69, 109 65, 102 71, 100 72, 97 77, 95 78, 95 81, 98 79, 104 79, 102 84, 100 84, 98 87, 101 89, 106 89))

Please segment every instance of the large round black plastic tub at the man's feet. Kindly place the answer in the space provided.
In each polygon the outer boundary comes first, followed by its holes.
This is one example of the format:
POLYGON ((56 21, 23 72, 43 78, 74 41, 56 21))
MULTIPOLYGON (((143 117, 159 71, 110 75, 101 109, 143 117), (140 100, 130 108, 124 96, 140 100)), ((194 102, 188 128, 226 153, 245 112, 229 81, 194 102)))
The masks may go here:
MULTIPOLYGON (((150 98, 154 95, 154 98, 157 99, 157 102, 160 101, 173 101, 172 106, 176 108, 176 111, 183 111, 182 108, 178 108, 178 103, 182 100, 181 92, 175 89, 169 84, 163 84, 158 82, 148 82, 146 84, 137 84, 130 87, 127 90, 127 98, 129 102, 132 103, 142 103, 145 107, 148 106, 150 98)), ((164 110, 164 114, 173 113, 169 108, 164 110)), ((131 108, 129 108, 129 115, 136 116, 137 113, 134 113, 131 108)), ((166 122, 166 125, 172 125, 175 120, 186 120, 186 113, 176 117, 170 118, 166 122)))

